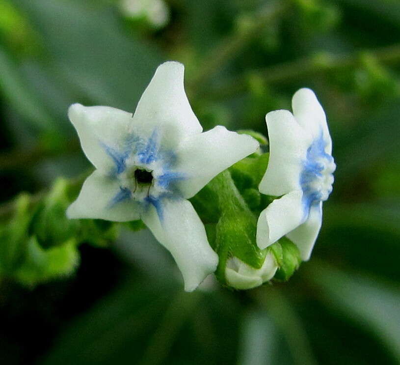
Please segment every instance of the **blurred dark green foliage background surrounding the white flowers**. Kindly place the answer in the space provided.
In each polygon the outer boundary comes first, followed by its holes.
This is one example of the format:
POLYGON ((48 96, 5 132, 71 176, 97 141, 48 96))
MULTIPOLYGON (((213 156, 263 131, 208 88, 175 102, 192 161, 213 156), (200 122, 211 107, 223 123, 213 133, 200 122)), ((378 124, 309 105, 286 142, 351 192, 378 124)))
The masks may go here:
POLYGON ((400 2, 166 4, 156 30, 116 0, 0 0, 1 364, 399 364, 400 2), (336 181, 289 282, 184 293, 140 225, 63 220, 90 168, 68 106, 134 111, 167 59, 205 129, 319 96, 336 181))

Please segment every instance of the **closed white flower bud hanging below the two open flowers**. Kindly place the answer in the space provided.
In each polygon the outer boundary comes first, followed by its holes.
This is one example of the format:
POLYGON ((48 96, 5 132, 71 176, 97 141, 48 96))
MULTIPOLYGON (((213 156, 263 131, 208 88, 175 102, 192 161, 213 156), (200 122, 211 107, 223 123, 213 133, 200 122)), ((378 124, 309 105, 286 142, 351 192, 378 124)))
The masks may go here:
POLYGON ((238 257, 230 257, 226 263, 225 278, 226 282, 240 290, 255 288, 273 278, 278 269, 275 257, 268 252, 263 266, 255 269, 238 257))

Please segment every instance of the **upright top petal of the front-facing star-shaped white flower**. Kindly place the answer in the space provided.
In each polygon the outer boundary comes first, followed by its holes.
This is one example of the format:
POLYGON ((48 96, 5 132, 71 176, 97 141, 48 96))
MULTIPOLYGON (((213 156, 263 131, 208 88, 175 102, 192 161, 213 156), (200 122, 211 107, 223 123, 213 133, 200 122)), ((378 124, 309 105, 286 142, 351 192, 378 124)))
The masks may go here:
POLYGON ((171 138, 201 133, 203 128, 194 115, 184 88, 182 63, 169 61, 156 70, 143 92, 133 115, 133 132, 149 137, 155 129, 170 129, 171 138))

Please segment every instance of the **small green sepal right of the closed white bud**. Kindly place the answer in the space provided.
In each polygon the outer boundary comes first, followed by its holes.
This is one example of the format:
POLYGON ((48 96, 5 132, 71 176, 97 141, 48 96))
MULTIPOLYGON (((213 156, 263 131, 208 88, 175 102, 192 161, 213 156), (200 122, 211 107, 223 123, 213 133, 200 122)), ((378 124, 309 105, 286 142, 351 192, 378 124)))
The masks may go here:
POLYGON ((274 255, 279 266, 273 279, 276 281, 288 281, 301 263, 297 246, 289 238, 282 237, 269 246, 269 250, 274 255))

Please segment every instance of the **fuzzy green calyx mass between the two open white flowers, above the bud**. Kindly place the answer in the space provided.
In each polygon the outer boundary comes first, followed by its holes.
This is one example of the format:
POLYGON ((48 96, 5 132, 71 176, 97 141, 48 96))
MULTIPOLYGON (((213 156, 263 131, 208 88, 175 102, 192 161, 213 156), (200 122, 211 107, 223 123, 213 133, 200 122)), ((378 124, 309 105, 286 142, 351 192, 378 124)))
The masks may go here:
POLYGON ((268 153, 253 154, 221 172, 190 199, 218 253, 215 275, 223 285, 228 286, 225 273, 231 257, 260 269, 271 252, 278 266, 273 279, 278 281, 288 280, 301 262, 297 247, 285 237, 264 250, 257 246, 257 219, 275 198, 258 191, 267 164, 268 153))

